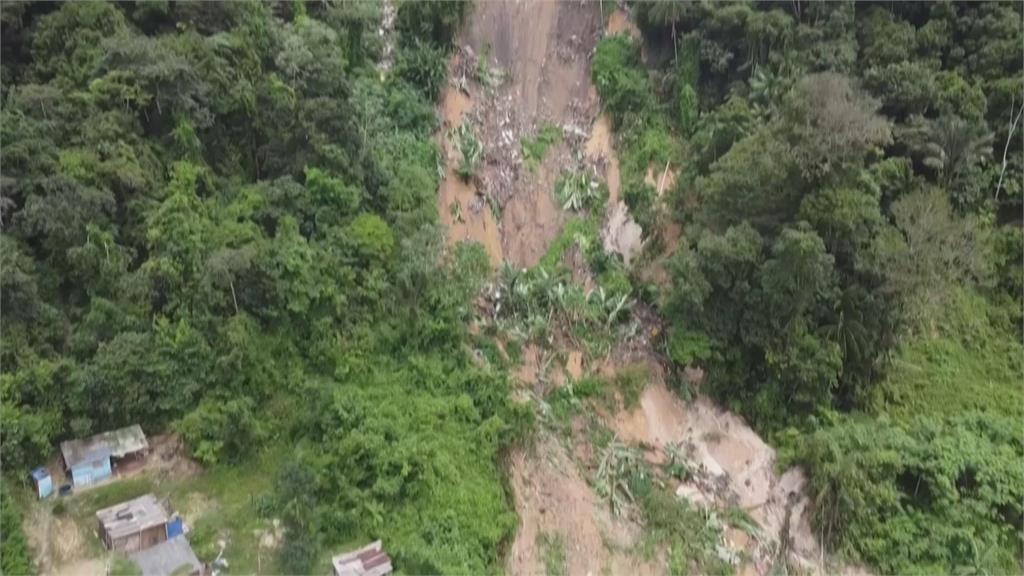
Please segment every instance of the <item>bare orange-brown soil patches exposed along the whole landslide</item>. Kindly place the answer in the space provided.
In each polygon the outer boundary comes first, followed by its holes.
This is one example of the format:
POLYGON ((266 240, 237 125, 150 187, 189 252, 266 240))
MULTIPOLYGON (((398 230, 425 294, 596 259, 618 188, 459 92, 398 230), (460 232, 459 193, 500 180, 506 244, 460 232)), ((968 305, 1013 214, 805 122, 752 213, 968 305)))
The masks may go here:
MULTIPOLYGON (((438 210, 451 242, 480 242, 494 264, 536 264, 565 220, 553 198, 555 182, 563 169, 586 162, 609 188, 602 233, 606 249, 623 254, 627 261, 640 250, 639 228, 620 199, 611 125, 607 117, 598 116, 589 70, 590 54, 602 34, 638 32, 622 11, 612 14, 607 30, 602 31, 603 26, 598 3, 475 4, 460 39, 460 55, 452 63, 453 86, 442 93, 439 137, 447 177, 440 188, 438 210), (479 60, 503 81, 481 85, 479 60), (475 81, 464 80, 474 75, 475 81), (484 150, 484 164, 470 182, 456 177, 455 151, 443 133, 464 120, 476 128, 484 150), (521 141, 545 124, 560 127, 562 141, 539 165, 527 167, 521 141)), ((652 167, 649 177, 665 190, 676 173, 676 167, 658 166, 656 172, 652 167)), ((674 241, 678 231, 666 236, 674 241)), ((660 457, 669 444, 688 447, 690 457, 717 488, 711 493, 708 486, 680 486, 680 497, 726 499, 742 506, 762 526, 762 541, 739 533, 728 535, 735 548, 755 559, 753 565, 741 567, 742 573, 766 574, 780 539, 787 542, 793 564, 820 571, 820 552, 804 515, 806 498, 800 497, 804 481, 799 470, 776 474, 774 451, 734 414, 707 399, 692 405, 682 402, 666 387, 662 367, 649 348, 646 339, 639 345, 634 342, 630 358, 621 359, 650 367, 651 379, 640 407, 609 416, 607 424, 623 440, 648 447, 652 459, 660 457)), ((542 352, 527 346, 524 356, 518 379, 524 388, 543 394, 542 352)), ((569 358, 570 366, 553 372, 555 380, 564 379, 566 372, 579 377, 586 371, 581 358, 569 358)), ((609 361, 600 371, 613 372, 622 365, 609 361)), ((569 574, 664 573, 664 564, 641 562, 631 553, 640 527, 609 515, 559 439, 542 433, 536 446, 512 455, 509 472, 520 519, 507 558, 510 574, 545 572, 542 537, 564 543, 569 574)))

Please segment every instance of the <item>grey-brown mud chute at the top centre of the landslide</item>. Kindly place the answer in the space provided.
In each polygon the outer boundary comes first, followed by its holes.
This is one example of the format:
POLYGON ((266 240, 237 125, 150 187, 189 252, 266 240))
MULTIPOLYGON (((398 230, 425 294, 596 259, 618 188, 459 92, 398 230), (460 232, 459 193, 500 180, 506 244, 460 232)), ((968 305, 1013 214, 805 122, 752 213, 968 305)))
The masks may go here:
POLYGON ((463 45, 506 76, 478 107, 486 165, 481 192, 502 207, 502 249, 516 265, 532 265, 561 230, 552 191, 574 134, 596 116, 589 56, 602 33, 600 4, 572 1, 477 2, 463 45), (544 124, 563 142, 536 169, 522 165, 520 142, 544 124))

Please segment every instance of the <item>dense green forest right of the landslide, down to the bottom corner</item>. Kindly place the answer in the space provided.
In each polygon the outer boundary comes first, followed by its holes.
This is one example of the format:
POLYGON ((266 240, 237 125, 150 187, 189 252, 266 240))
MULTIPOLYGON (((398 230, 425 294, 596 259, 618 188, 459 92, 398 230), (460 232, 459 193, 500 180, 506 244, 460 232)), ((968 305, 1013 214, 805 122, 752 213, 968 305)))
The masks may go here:
POLYGON ((1020 571, 1021 5, 635 14, 593 76, 655 240, 644 170, 681 166, 668 353, 806 467, 834 551, 1020 571))

